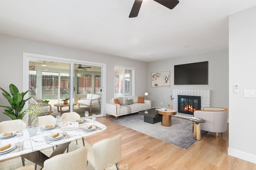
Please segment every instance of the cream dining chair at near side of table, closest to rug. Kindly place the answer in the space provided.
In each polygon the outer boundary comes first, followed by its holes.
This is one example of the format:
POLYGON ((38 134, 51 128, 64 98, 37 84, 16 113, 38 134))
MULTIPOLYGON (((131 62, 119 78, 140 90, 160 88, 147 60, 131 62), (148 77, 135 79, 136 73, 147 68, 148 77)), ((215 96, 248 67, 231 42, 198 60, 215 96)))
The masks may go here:
POLYGON ((118 162, 121 160, 121 141, 122 135, 103 139, 92 145, 92 150, 88 151, 87 161, 88 167, 95 170, 104 170, 110 168, 118 168, 118 162))

